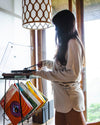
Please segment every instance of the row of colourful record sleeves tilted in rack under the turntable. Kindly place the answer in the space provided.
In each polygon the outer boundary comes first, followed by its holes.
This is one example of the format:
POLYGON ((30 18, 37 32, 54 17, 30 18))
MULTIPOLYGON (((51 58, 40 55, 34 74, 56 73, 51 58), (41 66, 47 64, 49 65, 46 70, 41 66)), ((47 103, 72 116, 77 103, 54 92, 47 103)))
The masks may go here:
POLYGON ((30 81, 27 81, 26 84, 20 82, 11 85, 1 99, 0 105, 5 110, 12 124, 17 125, 30 118, 46 102, 45 95, 30 81))

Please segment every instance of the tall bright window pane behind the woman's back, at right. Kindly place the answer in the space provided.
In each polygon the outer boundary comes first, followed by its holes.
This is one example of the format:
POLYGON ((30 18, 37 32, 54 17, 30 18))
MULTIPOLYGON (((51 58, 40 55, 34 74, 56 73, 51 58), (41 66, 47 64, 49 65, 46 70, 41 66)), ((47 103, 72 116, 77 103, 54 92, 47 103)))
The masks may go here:
POLYGON ((100 121, 100 4, 85 8, 87 121, 100 121))

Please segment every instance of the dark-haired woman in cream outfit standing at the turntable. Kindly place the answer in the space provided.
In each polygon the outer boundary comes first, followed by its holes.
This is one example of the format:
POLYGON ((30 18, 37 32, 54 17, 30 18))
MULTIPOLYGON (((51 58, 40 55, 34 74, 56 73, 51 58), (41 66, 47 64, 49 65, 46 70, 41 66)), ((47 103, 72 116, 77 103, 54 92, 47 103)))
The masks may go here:
POLYGON ((58 12, 52 19, 56 28, 57 53, 54 63, 41 61, 41 69, 33 74, 52 81, 54 90, 55 125, 85 125, 84 96, 80 88, 85 54, 75 29, 75 17, 69 10, 58 12))

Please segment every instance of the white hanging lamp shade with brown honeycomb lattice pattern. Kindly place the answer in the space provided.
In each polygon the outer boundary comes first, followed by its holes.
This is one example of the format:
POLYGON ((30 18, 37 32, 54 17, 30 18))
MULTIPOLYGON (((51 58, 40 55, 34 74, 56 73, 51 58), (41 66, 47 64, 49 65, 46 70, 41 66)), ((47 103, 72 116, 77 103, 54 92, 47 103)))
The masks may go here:
POLYGON ((51 0, 22 0, 22 26, 45 29, 51 26, 51 0))

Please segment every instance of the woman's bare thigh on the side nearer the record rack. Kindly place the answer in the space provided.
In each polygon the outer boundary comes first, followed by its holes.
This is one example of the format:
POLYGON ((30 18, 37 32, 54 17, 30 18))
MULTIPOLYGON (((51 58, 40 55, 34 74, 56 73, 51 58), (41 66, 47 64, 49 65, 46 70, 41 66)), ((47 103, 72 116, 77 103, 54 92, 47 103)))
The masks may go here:
POLYGON ((55 112, 55 125, 68 125, 65 113, 55 112))

